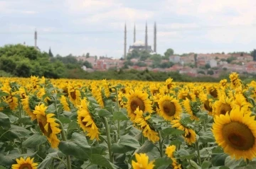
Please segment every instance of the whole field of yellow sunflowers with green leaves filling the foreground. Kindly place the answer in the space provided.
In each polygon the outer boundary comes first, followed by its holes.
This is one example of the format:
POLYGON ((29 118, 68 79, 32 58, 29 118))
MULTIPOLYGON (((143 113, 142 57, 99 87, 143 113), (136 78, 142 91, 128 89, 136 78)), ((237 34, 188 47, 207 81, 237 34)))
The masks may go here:
POLYGON ((256 81, 0 78, 0 169, 256 168, 256 81))

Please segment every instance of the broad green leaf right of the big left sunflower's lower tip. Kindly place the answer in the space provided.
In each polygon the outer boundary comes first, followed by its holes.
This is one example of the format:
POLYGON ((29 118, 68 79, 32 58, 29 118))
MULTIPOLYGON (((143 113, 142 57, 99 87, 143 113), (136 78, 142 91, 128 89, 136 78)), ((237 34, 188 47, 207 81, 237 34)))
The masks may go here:
POLYGON ((58 146, 65 155, 75 156, 77 158, 89 159, 91 148, 84 135, 73 133, 70 141, 60 141, 58 146))

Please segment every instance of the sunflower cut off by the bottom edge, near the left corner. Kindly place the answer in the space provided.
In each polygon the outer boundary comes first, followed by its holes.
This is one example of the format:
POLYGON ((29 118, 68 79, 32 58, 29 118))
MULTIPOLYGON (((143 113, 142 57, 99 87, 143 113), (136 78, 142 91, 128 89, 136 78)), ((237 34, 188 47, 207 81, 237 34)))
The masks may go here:
POLYGON ((33 159, 34 158, 26 158, 26 160, 24 158, 16 158, 16 164, 11 165, 12 169, 36 169, 38 163, 33 163, 33 159))

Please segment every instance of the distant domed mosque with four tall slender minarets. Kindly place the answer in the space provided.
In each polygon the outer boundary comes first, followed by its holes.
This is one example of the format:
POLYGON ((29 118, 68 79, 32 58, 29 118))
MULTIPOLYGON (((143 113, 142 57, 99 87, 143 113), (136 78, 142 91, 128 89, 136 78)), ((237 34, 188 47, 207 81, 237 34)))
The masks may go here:
MULTIPOLYGON (((136 40, 136 27, 134 25, 134 43, 129 46, 128 53, 131 53, 133 50, 139 50, 154 54, 156 53, 156 23, 154 23, 154 49, 151 49, 151 46, 148 44, 148 35, 147 35, 147 23, 145 30, 145 42, 142 40, 136 40)), ((124 59, 127 59, 127 27, 124 25, 124 59)))

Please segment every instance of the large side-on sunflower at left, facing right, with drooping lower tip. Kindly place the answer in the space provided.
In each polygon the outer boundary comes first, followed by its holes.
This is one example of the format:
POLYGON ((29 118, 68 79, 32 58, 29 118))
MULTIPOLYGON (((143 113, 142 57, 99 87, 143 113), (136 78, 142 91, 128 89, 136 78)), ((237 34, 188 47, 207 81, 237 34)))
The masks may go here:
POLYGON ((60 124, 55 122, 55 119, 53 118, 55 115, 53 113, 48 113, 46 115, 46 109, 47 107, 44 104, 37 105, 35 110, 33 110, 33 113, 36 114, 41 132, 47 137, 51 147, 58 148, 60 140, 57 138, 57 134, 60 133, 60 129, 58 128, 60 124))

